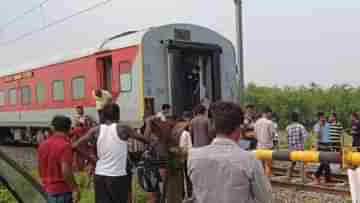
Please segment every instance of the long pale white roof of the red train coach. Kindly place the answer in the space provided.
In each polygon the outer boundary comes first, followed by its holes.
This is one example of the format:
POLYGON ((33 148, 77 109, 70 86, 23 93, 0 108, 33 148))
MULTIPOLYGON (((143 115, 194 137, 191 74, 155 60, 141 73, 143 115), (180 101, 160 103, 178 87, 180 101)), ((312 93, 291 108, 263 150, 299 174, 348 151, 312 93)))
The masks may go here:
POLYGON ((12 75, 19 72, 34 70, 37 68, 42 68, 54 64, 61 64, 67 61, 76 60, 86 56, 91 56, 106 50, 114 50, 114 49, 134 46, 141 43, 143 36, 149 30, 150 29, 126 32, 117 35, 116 37, 109 38, 104 42, 102 42, 102 44, 98 44, 97 47, 94 48, 77 50, 67 54, 59 54, 57 56, 43 58, 41 60, 33 61, 27 64, 21 64, 21 65, 17 64, 15 66, 4 67, 0 69, 0 76, 12 75))

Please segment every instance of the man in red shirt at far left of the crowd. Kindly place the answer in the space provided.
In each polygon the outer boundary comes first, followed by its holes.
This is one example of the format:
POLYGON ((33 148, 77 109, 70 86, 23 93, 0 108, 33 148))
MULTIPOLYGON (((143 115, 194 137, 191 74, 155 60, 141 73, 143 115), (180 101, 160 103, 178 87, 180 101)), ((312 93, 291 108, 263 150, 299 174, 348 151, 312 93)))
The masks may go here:
POLYGON ((69 142, 71 119, 56 116, 51 122, 54 133, 38 150, 39 174, 49 203, 79 202, 80 190, 75 182, 73 154, 69 142))

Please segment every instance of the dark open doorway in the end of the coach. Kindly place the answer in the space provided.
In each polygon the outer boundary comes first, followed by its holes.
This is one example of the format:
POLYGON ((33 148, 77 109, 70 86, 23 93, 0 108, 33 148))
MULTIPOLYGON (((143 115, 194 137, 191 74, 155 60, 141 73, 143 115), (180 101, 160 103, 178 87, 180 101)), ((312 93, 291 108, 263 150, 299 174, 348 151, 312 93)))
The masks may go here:
POLYGON ((221 99, 220 47, 170 42, 168 49, 169 95, 175 115, 193 110, 205 98, 221 99))

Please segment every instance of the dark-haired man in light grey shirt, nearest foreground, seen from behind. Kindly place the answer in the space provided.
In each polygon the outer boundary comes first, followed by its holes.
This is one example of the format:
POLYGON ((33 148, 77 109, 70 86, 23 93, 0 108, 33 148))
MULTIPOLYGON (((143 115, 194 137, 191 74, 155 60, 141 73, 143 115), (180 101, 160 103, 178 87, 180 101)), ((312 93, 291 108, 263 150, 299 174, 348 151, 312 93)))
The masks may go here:
POLYGON ((208 146, 191 149, 188 157, 195 202, 271 202, 271 186, 261 163, 238 145, 244 119, 240 106, 217 102, 212 114, 216 138, 208 146))

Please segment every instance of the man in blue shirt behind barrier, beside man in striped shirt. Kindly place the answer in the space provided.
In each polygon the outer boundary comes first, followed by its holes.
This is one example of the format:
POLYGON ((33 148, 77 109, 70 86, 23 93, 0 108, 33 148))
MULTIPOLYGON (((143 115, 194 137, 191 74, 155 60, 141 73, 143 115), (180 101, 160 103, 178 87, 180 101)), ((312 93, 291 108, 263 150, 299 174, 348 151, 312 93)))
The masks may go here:
MULTIPOLYGON (((330 124, 326 121, 325 114, 323 112, 318 113, 319 121, 314 126, 314 132, 318 136, 318 150, 319 151, 330 151, 331 150, 331 140, 330 140, 330 124)), ((320 184, 320 176, 325 176, 325 181, 330 181, 331 169, 330 164, 327 162, 320 163, 318 170, 314 175, 314 180, 316 184, 320 184)))

